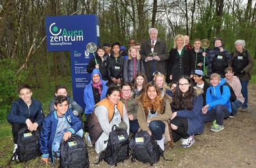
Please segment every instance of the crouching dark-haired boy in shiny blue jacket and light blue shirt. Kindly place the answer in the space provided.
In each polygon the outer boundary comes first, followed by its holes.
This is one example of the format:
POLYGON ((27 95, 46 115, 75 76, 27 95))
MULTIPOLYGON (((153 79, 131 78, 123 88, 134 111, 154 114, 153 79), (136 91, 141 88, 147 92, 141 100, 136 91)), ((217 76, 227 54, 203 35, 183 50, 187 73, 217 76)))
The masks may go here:
POLYGON ((44 119, 40 137, 40 149, 43 153, 41 160, 46 165, 49 157, 52 164, 54 164, 54 158, 60 157, 61 139, 67 141, 72 134, 83 137, 82 121, 68 108, 67 97, 63 95, 56 96, 54 108, 55 111, 49 113, 44 119))

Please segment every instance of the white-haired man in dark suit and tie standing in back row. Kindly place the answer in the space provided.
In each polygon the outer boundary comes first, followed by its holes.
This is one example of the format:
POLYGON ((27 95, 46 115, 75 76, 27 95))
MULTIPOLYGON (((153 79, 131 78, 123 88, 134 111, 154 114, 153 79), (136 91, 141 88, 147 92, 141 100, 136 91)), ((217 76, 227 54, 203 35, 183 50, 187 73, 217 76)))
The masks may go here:
POLYGON ((166 42, 157 38, 156 28, 148 30, 150 39, 141 43, 141 60, 144 63, 145 73, 148 81, 152 80, 154 72, 165 74, 166 60, 169 57, 166 42))

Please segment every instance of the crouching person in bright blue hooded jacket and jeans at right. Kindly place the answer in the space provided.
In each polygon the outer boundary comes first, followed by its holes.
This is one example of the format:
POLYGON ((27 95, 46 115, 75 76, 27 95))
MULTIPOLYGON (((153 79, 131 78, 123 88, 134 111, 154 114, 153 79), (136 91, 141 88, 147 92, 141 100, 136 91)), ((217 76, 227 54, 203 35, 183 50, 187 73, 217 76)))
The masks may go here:
POLYGON ((202 108, 204 123, 213 121, 211 130, 219 132, 224 129, 223 119, 228 118, 232 112, 230 103, 230 89, 225 86, 225 79, 218 73, 212 73, 211 85, 206 92, 206 105, 202 108), (222 87, 222 91, 221 91, 222 87))

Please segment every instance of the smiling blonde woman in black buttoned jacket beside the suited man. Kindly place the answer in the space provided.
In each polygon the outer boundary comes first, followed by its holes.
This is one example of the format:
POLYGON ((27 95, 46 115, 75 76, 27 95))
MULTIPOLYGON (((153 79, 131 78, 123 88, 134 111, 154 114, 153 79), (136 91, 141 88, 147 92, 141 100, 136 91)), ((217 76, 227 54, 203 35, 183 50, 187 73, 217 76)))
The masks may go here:
POLYGON ((178 34, 166 64, 166 82, 177 81, 181 75, 190 75, 193 70, 192 50, 185 47, 185 39, 178 34))

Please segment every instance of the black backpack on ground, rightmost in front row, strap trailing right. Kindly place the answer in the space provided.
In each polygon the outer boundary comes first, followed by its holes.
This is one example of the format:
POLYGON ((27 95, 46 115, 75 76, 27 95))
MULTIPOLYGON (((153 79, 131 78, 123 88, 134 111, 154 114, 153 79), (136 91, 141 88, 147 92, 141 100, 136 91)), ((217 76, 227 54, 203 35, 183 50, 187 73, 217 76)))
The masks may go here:
MULTIPOLYGON (((132 162, 135 162, 136 159, 144 164, 150 163, 150 165, 153 165, 159 162, 160 157, 164 158, 164 151, 147 131, 137 132, 132 135, 129 148, 131 149, 132 162)), ((164 158, 164 160, 167 159, 164 158)))

